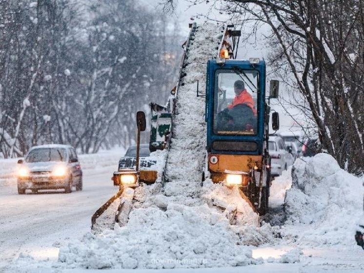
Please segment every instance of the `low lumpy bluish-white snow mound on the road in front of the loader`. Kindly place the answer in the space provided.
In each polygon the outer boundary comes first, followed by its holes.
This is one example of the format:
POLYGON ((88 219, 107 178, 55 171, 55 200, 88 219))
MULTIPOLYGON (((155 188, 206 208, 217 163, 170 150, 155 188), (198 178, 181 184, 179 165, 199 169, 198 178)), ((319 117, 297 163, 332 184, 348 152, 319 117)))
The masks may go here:
MULTIPOLYGON (((158 198, 157 198, 158 199, 158 198)), ((60 249, 59 260, 85 268, 199 268, 254 263, 248 247, 229 232, 225 217, 205 204, 176 203, 132 210, 127 226, 60 249)))

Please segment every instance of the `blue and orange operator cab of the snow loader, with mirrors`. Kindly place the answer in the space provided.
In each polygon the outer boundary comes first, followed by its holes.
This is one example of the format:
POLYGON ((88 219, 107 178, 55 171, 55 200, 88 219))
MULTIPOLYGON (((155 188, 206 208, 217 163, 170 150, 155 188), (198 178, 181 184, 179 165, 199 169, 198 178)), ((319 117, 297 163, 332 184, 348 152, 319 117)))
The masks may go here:
MULTIPOLYGON (((207 63, 206 110, 208 171, 213 182, 237 186, 242 197, 264 214, 270 176, 269 99, 278 97, 272 80, 265 98, 265 63, 258 58, 233 60, 229 47, 207 63)), ((279 129, 278 113, 272 127, 279 129)))

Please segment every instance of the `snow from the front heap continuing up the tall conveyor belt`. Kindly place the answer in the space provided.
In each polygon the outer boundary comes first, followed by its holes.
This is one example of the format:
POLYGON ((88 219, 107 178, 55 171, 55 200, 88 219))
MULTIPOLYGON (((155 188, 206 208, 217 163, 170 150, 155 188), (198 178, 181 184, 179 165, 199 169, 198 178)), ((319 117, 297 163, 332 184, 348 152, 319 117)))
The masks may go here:
MULTIPOLYGON (((196 81, 204 88, 208 59, 217 55, 219 27, 205 24, 192 37, 178 91, 173 138, 168 153, 167 180, 136 189, 133 210, 124 227, 99 235, 87 233, 60 249, 59 260, 85 268, 198 268, 257 263, 243 244, 272 240, 265 225, 230 226, 217 206, 233 202, 244 217, 239 224, 257 222, 257 215, 238 192, 214 185, 201 187, 205 160, 204 99, 196 97, 196 81), (229 200, 229 202, 227 202, 229 200), (215 206, 213 206, 215 205, 215 206)), ((231 208, 230 206, 230 208, 231 208)), ((260 262, 260 261, 258 261, 260 262)))

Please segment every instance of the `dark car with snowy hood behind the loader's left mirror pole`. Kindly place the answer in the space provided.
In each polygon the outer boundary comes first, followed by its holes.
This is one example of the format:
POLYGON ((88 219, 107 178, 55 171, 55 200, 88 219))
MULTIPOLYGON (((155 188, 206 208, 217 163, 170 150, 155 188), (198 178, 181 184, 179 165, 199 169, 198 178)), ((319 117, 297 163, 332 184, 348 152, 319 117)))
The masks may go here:
MULTIPOLYGON (((148 157, 150 156, 149 144, 141 144, 140 146, 140 167, 141 168, 150 168, 155 165, 157 161, 150 160, 148 157)), ((134 168, 137 165, 137 147, 130 146, 126 151, 125 155, 121 157, 119 160, 119 170, 125 168, 134 168)))

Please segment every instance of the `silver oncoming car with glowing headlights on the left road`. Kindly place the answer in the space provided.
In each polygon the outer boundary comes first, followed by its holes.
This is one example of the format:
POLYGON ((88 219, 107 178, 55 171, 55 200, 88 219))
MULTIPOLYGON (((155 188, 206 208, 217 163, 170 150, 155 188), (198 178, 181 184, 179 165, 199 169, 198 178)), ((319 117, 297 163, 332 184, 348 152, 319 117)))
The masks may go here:
POLYGON ((26 189, 82 190, 82 170, 76 151, 68 145, 41 145, 32 147, 24 160, 18 161, 18 193, 26 189))

